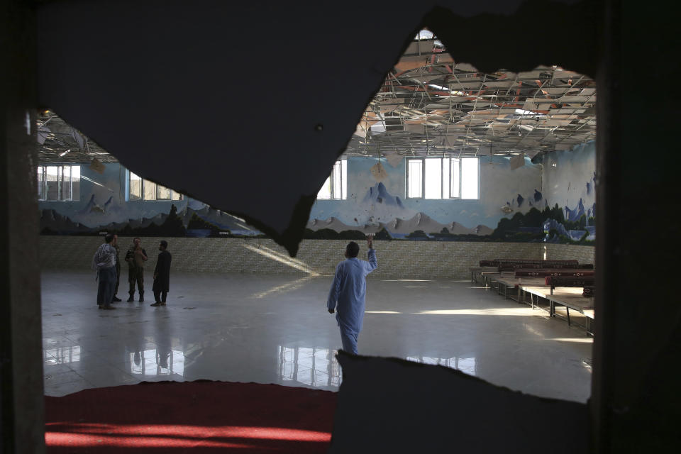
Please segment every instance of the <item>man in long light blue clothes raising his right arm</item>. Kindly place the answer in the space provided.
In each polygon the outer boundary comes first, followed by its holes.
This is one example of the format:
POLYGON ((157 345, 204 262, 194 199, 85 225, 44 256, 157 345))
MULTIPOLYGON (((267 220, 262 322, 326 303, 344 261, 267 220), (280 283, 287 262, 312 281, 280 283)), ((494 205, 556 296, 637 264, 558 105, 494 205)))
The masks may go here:
POLYGON ((343 350, 357 355, 357 336, 362 331, 364 319, 365 297, 367 294, 367 275, 376 269, 376 251, 373 247, 373 235, 367 235, 367 256, 369 261, 358 260, 360 246, 354 241, 345 248, 345 258, 336 267, 331 291, 328 292, 326 306, 328 313, 336 311, 336 321, 341 327, 343 350))

